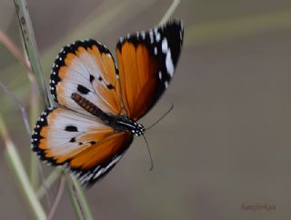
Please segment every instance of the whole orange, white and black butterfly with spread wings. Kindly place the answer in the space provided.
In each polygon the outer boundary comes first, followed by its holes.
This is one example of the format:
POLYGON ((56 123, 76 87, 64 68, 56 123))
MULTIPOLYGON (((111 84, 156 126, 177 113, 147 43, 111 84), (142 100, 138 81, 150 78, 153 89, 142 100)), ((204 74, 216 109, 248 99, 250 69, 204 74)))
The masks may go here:
POLYGON ((93 185, 125 154, 145 128, 136 121, 169 85, 183 44, 182 21, 121 37, 116 59, 89 39, 66 45, 55 59, 50 92, 58 107, 36 122, 32 149, 93 185))

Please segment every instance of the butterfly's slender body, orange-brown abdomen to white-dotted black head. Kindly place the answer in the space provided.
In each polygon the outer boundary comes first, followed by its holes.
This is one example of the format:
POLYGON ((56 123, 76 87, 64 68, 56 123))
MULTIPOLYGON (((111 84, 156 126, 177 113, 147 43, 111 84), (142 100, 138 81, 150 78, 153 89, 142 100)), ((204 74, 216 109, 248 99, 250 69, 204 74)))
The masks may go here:
POLYGON ((101 119, 106 125, 112 126, 115 131, 130 132, 136 136, 144 135, 145 133, 143 125, 137 124, 134 120, 126 116, 108 115, 82 95, 73 93, 72 99, 77 105, 101 119))

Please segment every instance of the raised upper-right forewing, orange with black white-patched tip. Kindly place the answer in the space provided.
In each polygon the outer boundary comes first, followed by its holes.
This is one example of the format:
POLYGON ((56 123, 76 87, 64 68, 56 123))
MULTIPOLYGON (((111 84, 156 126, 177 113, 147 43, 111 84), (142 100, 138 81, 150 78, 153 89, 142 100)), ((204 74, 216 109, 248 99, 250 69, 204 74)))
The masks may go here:
POLYGON ((126 115, 139 119, 169 85, 183 43, 181 21, 122 37, 116 45, 126 115))

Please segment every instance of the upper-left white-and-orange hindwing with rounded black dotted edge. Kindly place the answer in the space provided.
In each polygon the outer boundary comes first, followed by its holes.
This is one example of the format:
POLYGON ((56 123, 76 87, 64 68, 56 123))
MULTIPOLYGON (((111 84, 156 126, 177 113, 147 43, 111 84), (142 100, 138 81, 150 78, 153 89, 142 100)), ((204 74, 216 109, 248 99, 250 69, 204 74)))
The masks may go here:
POLYGON ((75 103, 72 94, 82 95, 106 114, 122 112, 118 72, 105 45, 95 40, 66 45, 55 59, 50 87, 60 105, 90 115, 75 103))

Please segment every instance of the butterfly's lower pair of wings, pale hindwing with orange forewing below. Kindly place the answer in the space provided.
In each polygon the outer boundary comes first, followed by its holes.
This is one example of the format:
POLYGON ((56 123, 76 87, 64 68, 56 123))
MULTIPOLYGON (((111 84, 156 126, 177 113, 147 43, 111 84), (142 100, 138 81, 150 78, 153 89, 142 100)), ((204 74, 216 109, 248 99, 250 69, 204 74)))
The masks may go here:
POLYGON ((35 125, 32 149, 46 164, 63 167, 81 185, 91 186, 116 165, 132 141, 133 135, 115 132, 97 118, 49 108, 35 125))

